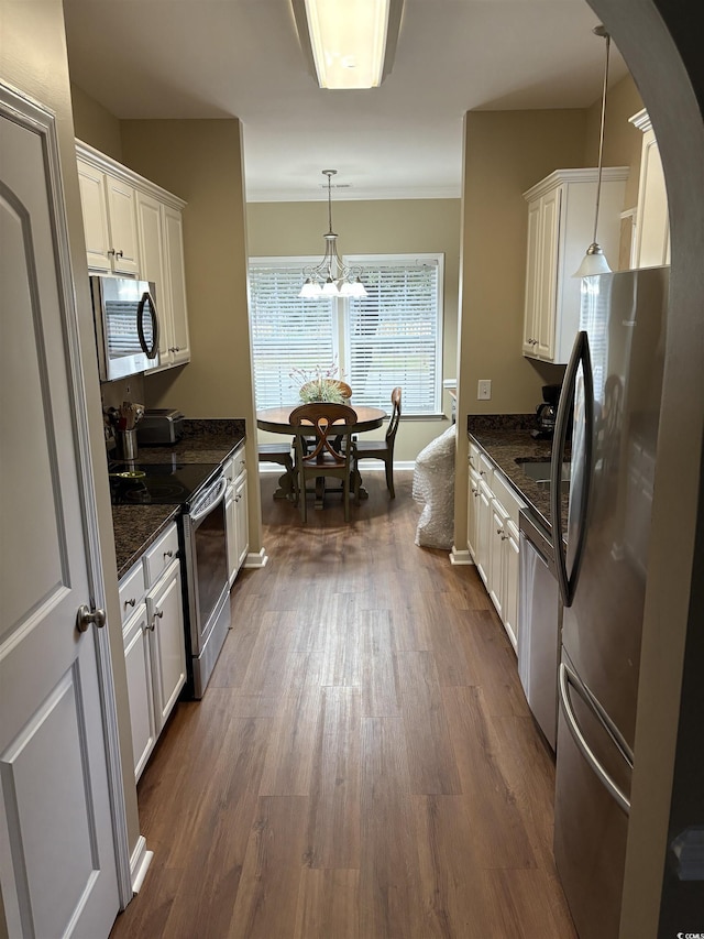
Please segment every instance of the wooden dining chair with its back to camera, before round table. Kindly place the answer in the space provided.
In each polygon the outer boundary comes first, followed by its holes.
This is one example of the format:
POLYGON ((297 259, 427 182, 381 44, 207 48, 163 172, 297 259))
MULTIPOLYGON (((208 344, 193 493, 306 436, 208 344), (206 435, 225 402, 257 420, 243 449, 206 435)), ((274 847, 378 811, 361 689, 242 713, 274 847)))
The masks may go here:
POLYGON ((346 404, 320 401, 295 407, 288 419, 296 434, 296 488, 304 522, 307 518, 306 481, 320 477, 342 480, 344 521, 349 522, 351 440, 356 413, 346 404), (314 441, 312 449, 307 440, 314 441))

